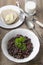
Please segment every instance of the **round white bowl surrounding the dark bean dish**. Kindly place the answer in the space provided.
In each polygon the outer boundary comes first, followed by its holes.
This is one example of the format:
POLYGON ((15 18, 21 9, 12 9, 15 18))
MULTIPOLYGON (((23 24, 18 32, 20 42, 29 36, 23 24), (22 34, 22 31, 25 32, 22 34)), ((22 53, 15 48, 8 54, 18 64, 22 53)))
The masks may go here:
POLYGON ((27 30, 27 29, 19 28, 19 29, 15 29, 15 30, 10 31, 9 33, 7 33, 5 35, 5 37, 2 40, 1 48, 2 48, 2 51, 3 51, 4 55, 9 60, 17 62, 17 63, 24 63, 24 62, 28 62, 28 61, 30 61, 30 60, 35 58, 35 56, 39 52, 40 43, 39 43, 38 37, 32 31, 27 30), (12 37, 15 37, 17 34, 21 34, 23 36, 27 36, 27 37, 29 37, 31 39, 31 42, 33 44, 33 51, 32 51, 32 53, 27 58, 24 58, 24 59, 14 58, 7 51, 8 40, 10 40, 12 37))

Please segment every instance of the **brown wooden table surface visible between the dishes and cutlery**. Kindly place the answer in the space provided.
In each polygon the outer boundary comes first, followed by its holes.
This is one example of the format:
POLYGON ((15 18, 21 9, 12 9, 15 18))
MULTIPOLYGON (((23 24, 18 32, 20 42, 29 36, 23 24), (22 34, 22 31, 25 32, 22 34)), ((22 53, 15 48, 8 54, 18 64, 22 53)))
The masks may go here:
MULTIPOLYGON (((0 0, 0 7, 2 7, 4 5, 8 5, 8 4, 15 5, 15 1, 16 0, 13 0, 13 1, 12 0, 0 0)), ((23 2, 22 2, 22 0, 19 0, 19 1, 20 1, 21 8, 24 9, 24 0, 23 0, 23 2)), ((35 17, 37 18, 38 21, 43 23, 43 10, 39 9, 37 14, 35 15, 35 17)), ((27 25, 25 24, 25 21, 18 28, 29 29, 27 27, 27 25)), ((17 63, 9 61, 2 53, 1 41, 2 41, 3 37, 5 36, 5 34, 9 31, 10 30, 0 28, 0 65, 22 65, 22 64, 17 64, 17 63)), ((39 25, 37 25, 35 23, 35 29, 33 29, 32 31, 34 31, 34 33, 38 36, 38 38, 40 40, 40 51, 39 51, 38 55, 32 61, 23 63, 23 65, 43 65, 43 28, 41 28, 39 25)))

